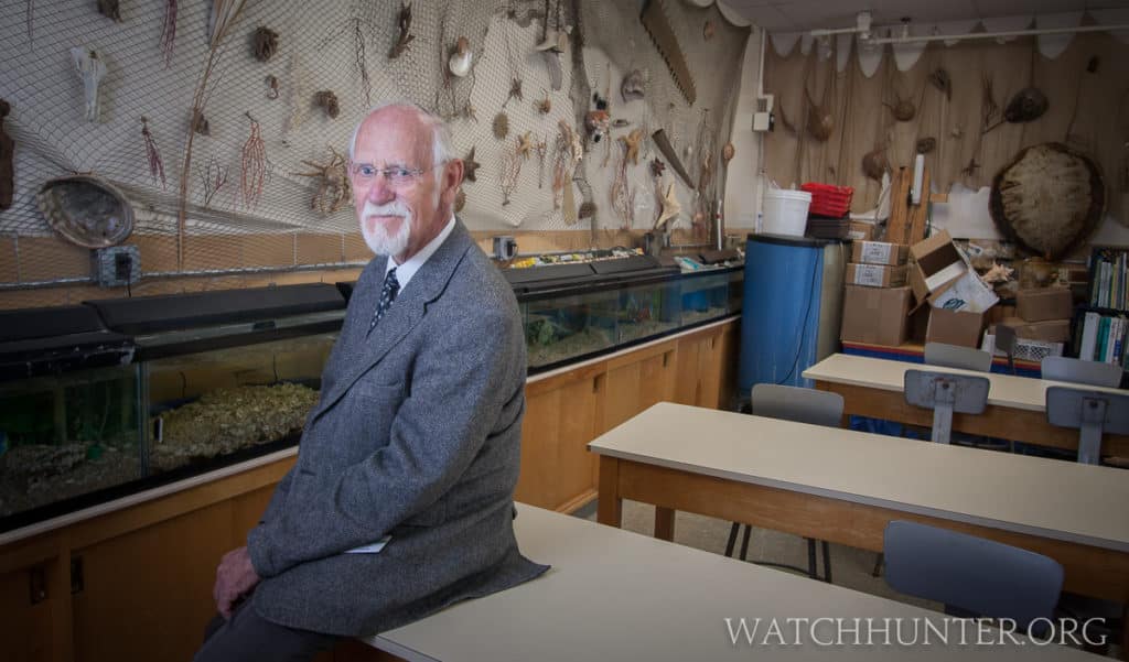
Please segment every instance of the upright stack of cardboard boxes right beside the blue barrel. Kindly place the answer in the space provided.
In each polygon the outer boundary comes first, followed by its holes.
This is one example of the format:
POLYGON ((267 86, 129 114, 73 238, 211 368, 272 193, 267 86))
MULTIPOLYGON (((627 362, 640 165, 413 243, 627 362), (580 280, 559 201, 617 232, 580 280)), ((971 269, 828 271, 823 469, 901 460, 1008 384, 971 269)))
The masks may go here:
POLYGON ((855 241, 843 295, 844 342, 898 346, 905 342, 910 289, 905 286, 908 247, 855 241))

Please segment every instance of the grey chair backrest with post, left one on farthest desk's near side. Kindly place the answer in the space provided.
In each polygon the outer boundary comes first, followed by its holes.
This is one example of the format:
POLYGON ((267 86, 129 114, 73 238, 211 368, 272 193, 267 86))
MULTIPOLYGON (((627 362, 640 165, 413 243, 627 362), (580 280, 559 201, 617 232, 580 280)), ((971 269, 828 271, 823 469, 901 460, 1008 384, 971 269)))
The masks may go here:
POLYGON ((987 377, 974 374, 907 370, 902 387, 907 403, 933 409, 933 441, 948 443, 953 412, 982 414, 988 406, 991 382, 987 377))

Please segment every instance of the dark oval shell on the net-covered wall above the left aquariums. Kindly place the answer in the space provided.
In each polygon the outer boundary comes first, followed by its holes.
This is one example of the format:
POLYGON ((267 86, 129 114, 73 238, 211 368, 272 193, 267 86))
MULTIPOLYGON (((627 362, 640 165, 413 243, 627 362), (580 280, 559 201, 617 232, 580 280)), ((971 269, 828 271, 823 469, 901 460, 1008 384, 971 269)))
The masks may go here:
POLYGON ((51 229, 84 248, 115 246, 133 231, 133 206, 98 177, 51 179, 40 188, 36 202, 51 229))

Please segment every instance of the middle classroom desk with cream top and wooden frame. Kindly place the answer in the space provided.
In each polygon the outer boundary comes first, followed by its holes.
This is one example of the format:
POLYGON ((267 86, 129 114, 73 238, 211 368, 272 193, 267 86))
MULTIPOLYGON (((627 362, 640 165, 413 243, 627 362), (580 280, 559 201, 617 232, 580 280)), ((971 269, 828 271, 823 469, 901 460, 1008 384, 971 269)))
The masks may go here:
POLYGON ((886 523, 946 527, 1044 554, 1065 589, 1129 602, 1129 474, 660 403, 588 444, 601 523, 622 500, 882 550, 886 523))

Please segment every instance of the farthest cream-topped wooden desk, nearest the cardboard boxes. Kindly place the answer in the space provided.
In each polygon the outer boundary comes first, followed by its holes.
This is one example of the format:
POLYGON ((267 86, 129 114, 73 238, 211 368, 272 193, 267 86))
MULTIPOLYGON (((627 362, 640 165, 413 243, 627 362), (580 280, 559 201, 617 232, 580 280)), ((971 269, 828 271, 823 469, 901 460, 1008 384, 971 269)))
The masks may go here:
MULTIPOLYGON (((1108 390, 1121 395, 1129 392, 1114 388, 938 365, 913 365, 902 361, 847 354, 828 356, 805 370, 804 378, 814 380, 817 389, 841 395, 843 413, 847 415, 870 416, 931 427, 933 411, 908 404, 902 391, 905 371, 914 369, 974 374, 986 377, 991 382, 988 390, 988 407, 983 414, 953 414, 953 430, 1075 451, 1078 450, 1078 431, 1056 427, 1047 422, 1047 388, 1066 386, 1108 390)), ((1129 456, 1129 436, 1104 435, 1102 453, 1129 456)))

